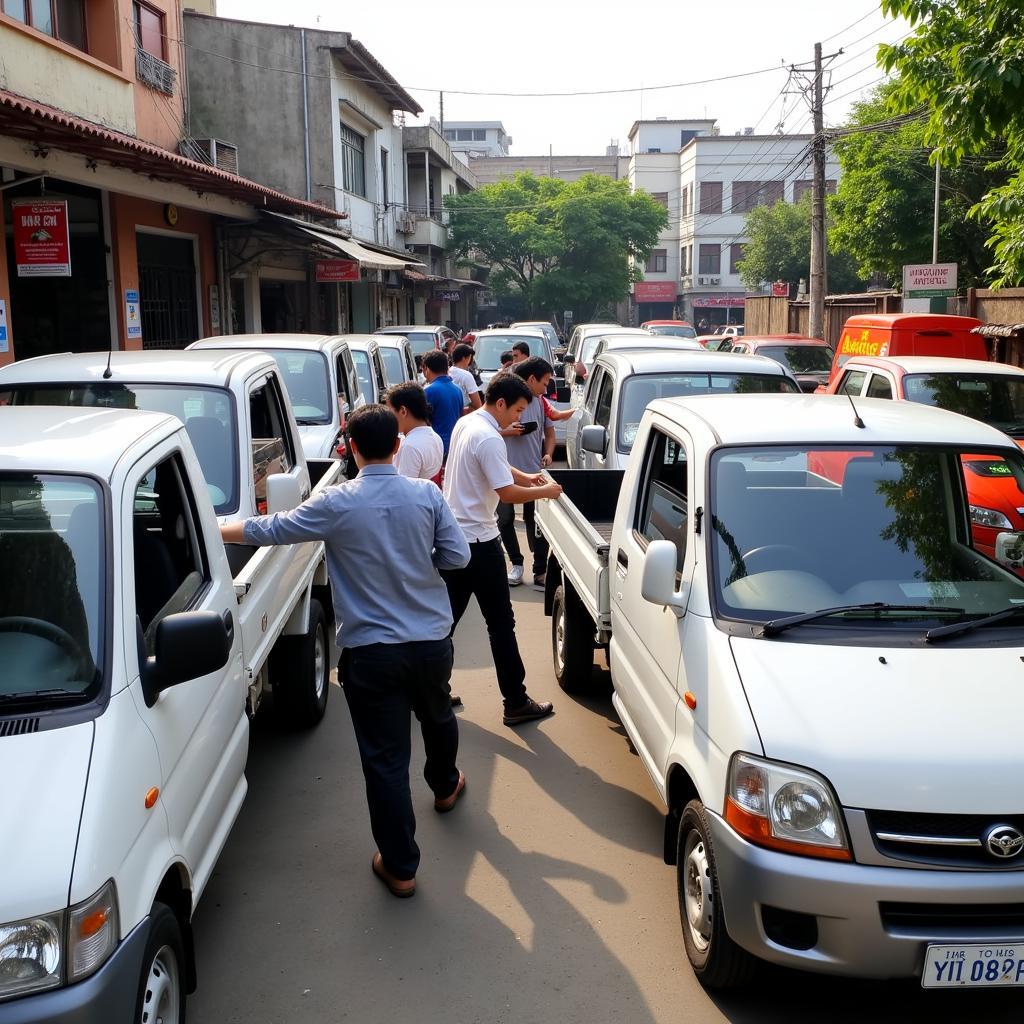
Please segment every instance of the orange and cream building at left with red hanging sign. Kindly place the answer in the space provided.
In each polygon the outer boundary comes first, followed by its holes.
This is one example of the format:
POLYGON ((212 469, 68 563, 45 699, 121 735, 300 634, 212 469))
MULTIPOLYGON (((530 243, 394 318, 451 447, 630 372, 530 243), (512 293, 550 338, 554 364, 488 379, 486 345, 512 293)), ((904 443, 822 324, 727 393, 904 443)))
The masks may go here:
POLYGON ((181 24, 180 0, 0 2, 0 362, 220 332, 219 232, 337 222, 190 145, 181 24))

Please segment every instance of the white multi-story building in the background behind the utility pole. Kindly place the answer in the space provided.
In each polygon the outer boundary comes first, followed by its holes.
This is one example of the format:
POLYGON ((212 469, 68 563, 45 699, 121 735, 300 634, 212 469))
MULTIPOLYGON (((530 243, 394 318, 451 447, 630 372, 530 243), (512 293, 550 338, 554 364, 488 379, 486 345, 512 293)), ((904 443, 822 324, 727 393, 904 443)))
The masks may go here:
MULTIPOLYGON (((746 214, 811 185, 810 135, 720 135, 714 121, 639 121, 630 131, 630 182, 669 210, 669 226, 634 286, 637 323, 741 322, 746 214), (675 148, 671 148, 675 146, 675 148)), ((839 164, 829 155, 827 189, 839 164)))

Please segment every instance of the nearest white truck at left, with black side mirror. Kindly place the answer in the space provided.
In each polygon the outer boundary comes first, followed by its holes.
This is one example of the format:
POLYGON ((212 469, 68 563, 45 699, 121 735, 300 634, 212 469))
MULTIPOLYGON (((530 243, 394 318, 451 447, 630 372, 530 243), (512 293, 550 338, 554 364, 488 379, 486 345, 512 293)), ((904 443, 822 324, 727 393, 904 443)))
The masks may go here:
POLYGON ((204 475, 172 416, 0 408, 4 1024, 184 1020, 269 628, 204 475))

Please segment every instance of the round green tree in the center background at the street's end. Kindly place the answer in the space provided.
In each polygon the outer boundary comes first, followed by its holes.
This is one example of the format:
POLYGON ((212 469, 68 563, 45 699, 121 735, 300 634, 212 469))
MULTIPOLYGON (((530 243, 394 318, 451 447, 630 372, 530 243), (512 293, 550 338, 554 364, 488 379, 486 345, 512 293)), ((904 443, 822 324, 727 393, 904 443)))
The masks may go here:
POLYGON ((444 204, 455 252, 489 263, 498 295, 521 295, 534 315, 572 309, 578 321, 626 298, 669 222, 647 193, 596 174, 566 182, 523 172, 444 204))

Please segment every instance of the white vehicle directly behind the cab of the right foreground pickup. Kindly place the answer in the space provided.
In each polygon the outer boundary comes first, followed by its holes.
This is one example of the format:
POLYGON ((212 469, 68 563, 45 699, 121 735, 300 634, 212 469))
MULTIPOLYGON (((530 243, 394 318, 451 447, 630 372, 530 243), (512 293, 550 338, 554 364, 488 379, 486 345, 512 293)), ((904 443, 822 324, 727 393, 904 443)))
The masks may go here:
POLYGON ((569 421, 566 460, 570 469, 622 469, 644 410, 657 398, 799 390, 783 367, 762 356, 649 348, 605 352, 594 364, 580 413, 569 421))

